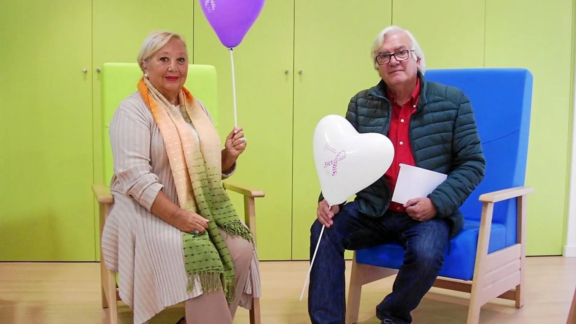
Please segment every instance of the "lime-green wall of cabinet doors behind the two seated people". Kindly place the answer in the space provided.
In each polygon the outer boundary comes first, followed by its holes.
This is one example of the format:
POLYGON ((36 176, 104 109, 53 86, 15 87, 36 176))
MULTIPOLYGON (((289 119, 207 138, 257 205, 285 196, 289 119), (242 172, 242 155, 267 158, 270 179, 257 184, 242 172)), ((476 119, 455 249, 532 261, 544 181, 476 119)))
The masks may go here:
MULTIPOLYGON (((414 33, 428 68, 532 71, 526 184, 536 193, 528 203, 528 254, 560 254, 568 197, 573 5, 572 0, 267 1, 234 50, 238 122, 248 150, 230 179, 266 191, 256 203, 262 260, 308 258, 319 192, 313 127, 328 113, 344 115, 349 98, 377 82, 369 48, 391 23, 414 33)), ((101 171, 106 137, 99 127, 96 68, 134 62, 150 31, 183 33, 194 63, 217 68, 219 129, 225 136, 233 127, 229 52, 198 1, 162 3, 175 9, 169 19, 146 18, 157 10, 152 0, 50 5, 24 0, 7 6, 0 12, 0 70, 10 76, 0 87, 0 237, 13 244, 0 249, 0 261, 96 260, 98 222, 90 185, 108 182, 101 171)), ((239 211, 240 198, 233 195, 239 211)))

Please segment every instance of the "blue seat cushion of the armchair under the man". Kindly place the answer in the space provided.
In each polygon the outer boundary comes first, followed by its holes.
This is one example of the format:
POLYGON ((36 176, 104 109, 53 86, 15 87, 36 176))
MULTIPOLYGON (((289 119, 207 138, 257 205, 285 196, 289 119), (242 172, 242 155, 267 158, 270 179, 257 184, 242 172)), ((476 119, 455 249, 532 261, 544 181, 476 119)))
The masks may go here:
MULTIPOLYGON (((444 265, 438 276, 460 280, 472 280, 480 222, 465 220, 460 234, 450 240, 446 248, 444 265)), ((506 228, 503 224, 493 223, 490 230, 488 253, 506 247, 506 228)), ((356 252, 356 261, 361 264, 399 269, 404 260, 404 249, 399 243, 368 247, 356 252)))

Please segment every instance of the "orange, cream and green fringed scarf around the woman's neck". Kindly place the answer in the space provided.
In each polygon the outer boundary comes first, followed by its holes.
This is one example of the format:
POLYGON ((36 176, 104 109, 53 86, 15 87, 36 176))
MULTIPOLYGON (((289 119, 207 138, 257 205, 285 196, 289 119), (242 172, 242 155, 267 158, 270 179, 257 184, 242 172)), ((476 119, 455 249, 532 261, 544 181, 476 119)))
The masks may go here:
POLYGON ((222 287, 230 303, 236 290, 234 264, 219 228, 251 242, 253 239, 222 186, 220 136, 198 101, 184 87, 179 94, 181 112, 146 78, 138 82, 138 91, 164 139, 180 208, 209 220, 209 227, 200 235, 182 233, 187 289, 192 291, 196 280, 204 292, 222 287), (199 145, 184 118, 194 125, 199 145))

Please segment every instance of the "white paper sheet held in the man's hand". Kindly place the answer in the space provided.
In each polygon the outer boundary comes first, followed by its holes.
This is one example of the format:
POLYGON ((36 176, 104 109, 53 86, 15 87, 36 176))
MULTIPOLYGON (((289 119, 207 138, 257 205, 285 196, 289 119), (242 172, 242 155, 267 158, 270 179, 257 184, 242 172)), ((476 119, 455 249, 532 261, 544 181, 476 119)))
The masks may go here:
POLYGON ((410 199, 426 197, 447 177, 443 173, 400 163, 392 201, 405 204, 410 199))

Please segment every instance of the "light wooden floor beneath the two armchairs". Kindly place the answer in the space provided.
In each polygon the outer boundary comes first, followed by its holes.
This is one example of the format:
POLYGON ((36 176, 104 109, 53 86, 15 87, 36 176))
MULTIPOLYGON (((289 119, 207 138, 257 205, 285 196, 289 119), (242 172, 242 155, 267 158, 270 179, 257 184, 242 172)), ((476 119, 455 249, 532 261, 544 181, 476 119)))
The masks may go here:
MULTIPOLYGON (((565 324, 576 286, 576 258, 530 257, 526 269, 526 303, 494 300, 482 308, 480 323, 565 324)), ((348 264, 347 278, 350 276, 348 264)), ((310 323, 307 300, 300 302, 308 262, 261 262, 263 324, 310 323)), ((100 277, 97 263, 0 263, 1 324, 101 324, 100 277)), ((360 323, 379 324, 376 304, 391 291, 393 277, 366 285, 360 323)), ((432 288, 412 313, 415 324, 463 324, 469 295, 432 288)), ((120 308, 121 323, 131 312, 120 308)), ((175 323, 182 307, 172 307, 151 321, 175 323)), ((247 324, 248 311, 238 310, 234 323, 247 324)))

